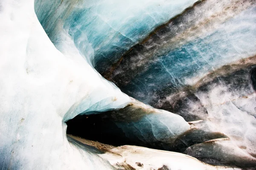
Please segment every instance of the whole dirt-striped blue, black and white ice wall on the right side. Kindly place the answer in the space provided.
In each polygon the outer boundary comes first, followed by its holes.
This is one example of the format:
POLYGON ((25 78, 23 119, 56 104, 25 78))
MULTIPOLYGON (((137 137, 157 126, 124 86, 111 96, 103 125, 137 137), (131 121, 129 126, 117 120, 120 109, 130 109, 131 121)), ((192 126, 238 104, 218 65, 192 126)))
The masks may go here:
POLYGON ((255 166, 255 26, 254 0, 202 1, 102 75, 135 99, 186 121, 202 120, 192 128, 229 138, 191 146, 187 154, 212 164, 255 166))

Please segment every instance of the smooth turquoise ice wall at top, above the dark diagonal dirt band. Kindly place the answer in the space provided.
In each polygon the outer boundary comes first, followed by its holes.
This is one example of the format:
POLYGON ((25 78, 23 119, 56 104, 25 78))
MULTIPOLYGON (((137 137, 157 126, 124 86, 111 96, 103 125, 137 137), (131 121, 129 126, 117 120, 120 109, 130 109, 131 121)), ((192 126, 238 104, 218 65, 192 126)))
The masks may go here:
POLYGON ((63 29, 102 73, 154 28, 196 1, 35 0, 35 11, 57 48, 63 29))

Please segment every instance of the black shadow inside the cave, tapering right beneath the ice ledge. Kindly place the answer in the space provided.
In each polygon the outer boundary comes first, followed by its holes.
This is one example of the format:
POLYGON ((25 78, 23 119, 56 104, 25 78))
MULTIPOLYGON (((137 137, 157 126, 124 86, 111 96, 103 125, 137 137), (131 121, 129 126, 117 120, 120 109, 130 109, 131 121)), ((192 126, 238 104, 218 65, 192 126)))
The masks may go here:
POLYGON ((143 124, 140 129, 128 120, 117 121, 113 112, 115 111, 78 115, 66 122, 67 134, 113 146, 136 145, 175 152, 184 152, 187 147, 193 144, 227 137, 222 133, 191 129, 175 139, 170 139, 169 142, 163 142, 155 138, 150 123, 143 124), (142 129, 148 129, 146 134, 142 134, 143 132, 140 131, 142 129), (147 136, 147 139, 145 139, 145 136, 147 136))

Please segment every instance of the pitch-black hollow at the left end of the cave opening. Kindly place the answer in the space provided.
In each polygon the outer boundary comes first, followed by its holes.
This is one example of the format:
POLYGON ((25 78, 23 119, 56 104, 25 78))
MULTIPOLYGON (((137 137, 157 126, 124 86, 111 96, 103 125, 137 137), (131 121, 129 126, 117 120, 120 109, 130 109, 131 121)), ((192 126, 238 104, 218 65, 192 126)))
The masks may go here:
POLYGON ((107 114, 78 115, 70 119, 66 122, 67 134, 113 146, 138 145, 127 138, 107 114))

